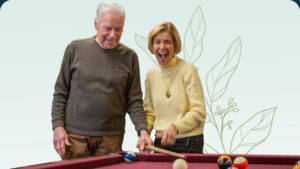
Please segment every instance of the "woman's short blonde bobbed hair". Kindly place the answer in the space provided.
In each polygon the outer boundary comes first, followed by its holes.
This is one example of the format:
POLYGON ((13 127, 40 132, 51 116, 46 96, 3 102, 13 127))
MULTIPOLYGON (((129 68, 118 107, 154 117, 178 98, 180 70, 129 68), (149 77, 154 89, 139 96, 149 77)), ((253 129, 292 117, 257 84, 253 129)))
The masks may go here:
POLYGON ((155 26, 155 28, 148 35, 148 49, 153 53, 153 42, 154 38, 162 33, 168 32, 173 37, 174 42, 174 53, 178 54, 181 51, 181 39, 176 27, 171 22, 163 22, 155 26))

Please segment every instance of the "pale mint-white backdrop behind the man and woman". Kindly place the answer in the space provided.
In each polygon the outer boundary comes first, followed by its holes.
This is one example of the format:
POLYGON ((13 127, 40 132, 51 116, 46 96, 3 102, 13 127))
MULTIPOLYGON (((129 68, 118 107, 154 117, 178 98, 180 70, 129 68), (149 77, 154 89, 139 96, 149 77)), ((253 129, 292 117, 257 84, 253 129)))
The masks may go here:
MULTIPOLYGON (((54 83, 67 44, 95 34, 100 2, 10 0, 0 9, 0 168, 59 160, 52 145, 54 83)), ((142 40, 155 25, 173 22, 189 52, 193 38, 202 44, 190 60, 207 101, 206 153, 300 154, 300 10, 294 2, 118 2, 126 10, 121 41, 139 55, 143 89, 154 56, 142 50, 142 40), (218 73, 224 76, 213 83, 218 73)), ((189 60, 184 52, 179 57, 189 60)), ((136 141, 127 117, 123 149, 137 151, 136 141)))

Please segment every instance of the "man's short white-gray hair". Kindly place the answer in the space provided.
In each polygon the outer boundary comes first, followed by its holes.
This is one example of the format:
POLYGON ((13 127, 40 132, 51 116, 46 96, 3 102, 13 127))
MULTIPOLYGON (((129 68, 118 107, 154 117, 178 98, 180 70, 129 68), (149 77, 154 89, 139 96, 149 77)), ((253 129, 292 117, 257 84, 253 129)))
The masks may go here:
POLYGON ((107 12, 118 13, 125 21, 125 10, 122 5, 116 2, 102 2, 98 5, 96 11, 96 22, 99 23, 101 16, 107 12))

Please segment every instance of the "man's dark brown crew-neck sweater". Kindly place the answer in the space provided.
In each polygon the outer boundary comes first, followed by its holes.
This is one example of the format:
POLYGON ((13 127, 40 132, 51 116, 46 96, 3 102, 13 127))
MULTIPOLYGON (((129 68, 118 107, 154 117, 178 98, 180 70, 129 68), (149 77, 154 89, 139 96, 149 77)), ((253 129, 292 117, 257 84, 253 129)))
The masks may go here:
POLYGON ((146 128, 136 53, 123 44, 105 50, 95 37, 68 45, 55 84, 52 127, 86 136, 124 134, 128 112, 146 128))

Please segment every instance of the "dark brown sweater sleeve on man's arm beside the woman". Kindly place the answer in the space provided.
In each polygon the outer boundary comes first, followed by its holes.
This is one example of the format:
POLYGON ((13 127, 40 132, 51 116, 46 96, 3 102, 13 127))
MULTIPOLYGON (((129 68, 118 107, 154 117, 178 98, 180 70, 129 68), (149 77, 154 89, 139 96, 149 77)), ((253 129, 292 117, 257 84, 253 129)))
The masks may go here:
POLYGON ((127 83, 126 104, 127 112, 135 126, 135 130, 139 132, 142 129, 146 129, 146 119, 143 108, 140 69, 137 56, 133 64, 133 72, 127 83))

